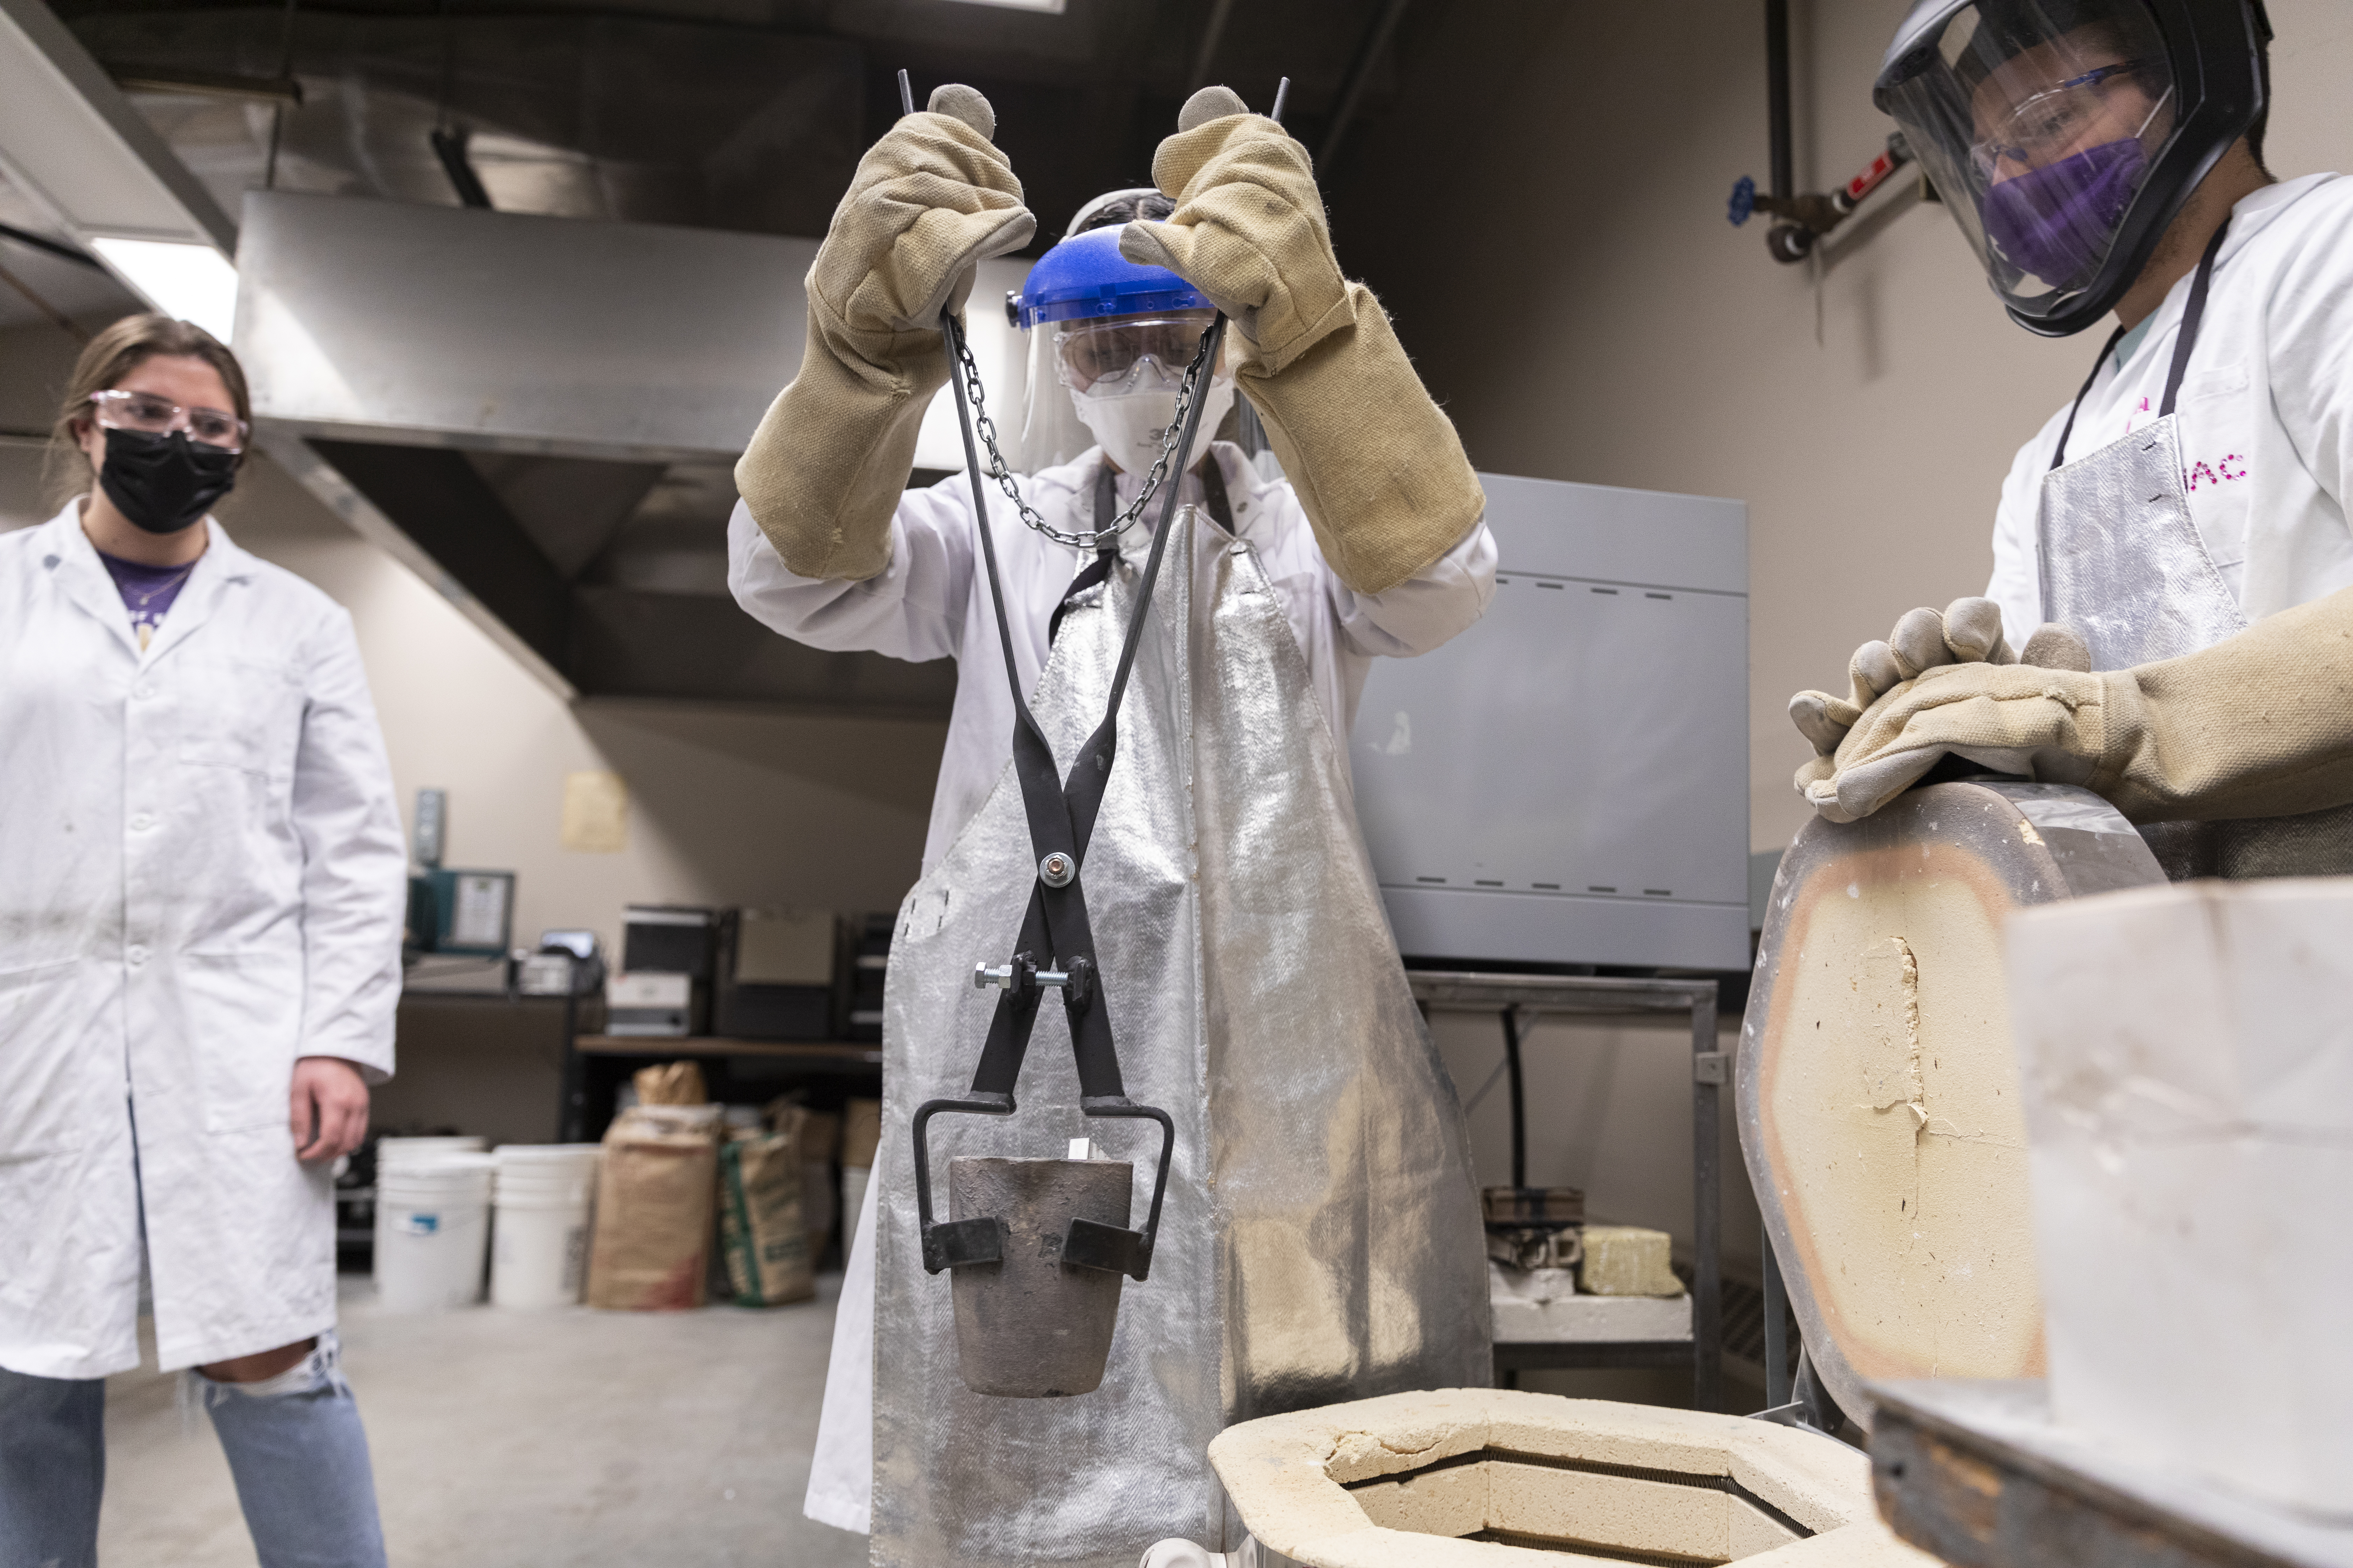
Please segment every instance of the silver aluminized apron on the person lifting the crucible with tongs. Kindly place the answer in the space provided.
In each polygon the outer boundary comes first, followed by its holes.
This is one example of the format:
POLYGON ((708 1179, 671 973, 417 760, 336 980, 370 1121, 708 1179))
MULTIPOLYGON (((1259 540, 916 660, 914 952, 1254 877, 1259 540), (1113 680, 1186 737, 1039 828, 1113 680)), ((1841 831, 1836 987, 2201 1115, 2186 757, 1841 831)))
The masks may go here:
MULTIPOLYGON (((915 884, 892 938, 875 1182, 873 1561, 1132 1568, 1181 1535, 1240 1544, 1205 1448, 1254 1415, 1492 1373, 1464 1119, 1407 990, 1334 736, 1257 552, 1184 510, 1085 860, 1120 1072, 1176 1145, 1151 1279, 1104 1387, 991 1399, 958 1373, 948 1274, 922 1269, 908 1121, 972 1081, 1038 882, 1012 764, 915 884)), ((1033 712, 1068 769, 1104 715, 1136 595, 1075 602, 1033 712)), ((993 656, 991 656, 993 658, 993 656)), ((995 670, 967 679, 998 679, 995 670)), ((1092 1135, 1151 1197, 1160 1131, 1085 1119, 1059 1006, 1019 1112, 929 1124, 958 1154, 1092 1135)), ((1217 1547, 1224 1542, 1224 1547, 1217 1547)))

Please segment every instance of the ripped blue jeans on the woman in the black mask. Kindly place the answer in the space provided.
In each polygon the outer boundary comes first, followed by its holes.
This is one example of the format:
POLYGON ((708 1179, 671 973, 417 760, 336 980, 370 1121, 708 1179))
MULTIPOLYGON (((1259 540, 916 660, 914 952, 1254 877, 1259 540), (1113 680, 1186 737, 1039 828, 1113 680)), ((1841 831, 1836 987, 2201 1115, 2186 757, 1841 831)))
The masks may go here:
MULTIPOLYGON (((186 1373, 261 1568, 384 1568, 376 1481, 334 1333, 266 1382, 186 1373)), ((0 1568, 96 1568, 106 1380, 0 1368, 0 1568)))

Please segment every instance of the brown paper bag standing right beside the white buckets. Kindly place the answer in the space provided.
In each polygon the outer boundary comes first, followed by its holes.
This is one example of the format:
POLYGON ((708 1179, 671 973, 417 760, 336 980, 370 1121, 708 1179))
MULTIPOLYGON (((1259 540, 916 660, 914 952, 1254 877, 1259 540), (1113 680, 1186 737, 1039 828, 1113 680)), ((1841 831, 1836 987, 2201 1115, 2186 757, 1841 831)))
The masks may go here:
POLYGON ((588 1305, 678 1312, 704 1305, 718 1105, 633 1105, 605 1131, 588 1244, 588 1305))

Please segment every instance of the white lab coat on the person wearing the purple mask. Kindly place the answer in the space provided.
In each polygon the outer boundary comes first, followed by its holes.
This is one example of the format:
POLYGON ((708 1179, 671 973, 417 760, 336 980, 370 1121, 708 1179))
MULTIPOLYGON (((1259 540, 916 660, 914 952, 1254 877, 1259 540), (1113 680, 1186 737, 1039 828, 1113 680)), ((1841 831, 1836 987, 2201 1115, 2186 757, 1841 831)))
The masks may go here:
MULTIPOLYGON (((2188 292, 2181 277, 2122 369, 2101 369, 2068 461, 2158 418, 2188 292)), ((2174 414, 2191 522, 2247 621, 2353 585, 2353 179, 2308 174, 2231 212, 2174 414)), ((2019 449, 1993 522, 1986 597, 2009 646, 2042 621, 2035 517, 2061 425, 2066 409, 2019 449)))

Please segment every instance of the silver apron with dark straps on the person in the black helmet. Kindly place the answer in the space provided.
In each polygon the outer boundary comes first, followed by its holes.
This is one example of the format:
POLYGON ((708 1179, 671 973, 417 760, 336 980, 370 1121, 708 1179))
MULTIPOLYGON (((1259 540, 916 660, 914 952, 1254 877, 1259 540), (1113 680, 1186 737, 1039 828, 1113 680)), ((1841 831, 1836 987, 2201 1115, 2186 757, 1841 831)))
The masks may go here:
MULTIPOLYGON (((2174 414, 2226 233, 2228 223, 2198 261, 2158 421, 2066 463, 2066 437, 2075 428, 2068 414, 2052 470, 2042 475, 2035 517, 2042 618, 2082 632, 2094 670, 2181 658, 2247 630, 2247 616, 2191 520, 2174 414)), ((2113 350, 2115 339, 2108 339, 2099 364, 2113 350)), ((2099 378, 2097 364, 2092 378, 2099 378)), ((2085 381, 2078 409, 2089 390, 2085 381)), ((2353 872, 2353 806, 2226 823, 2141 823, 2141 837, 2174 882, 2353 872)))

